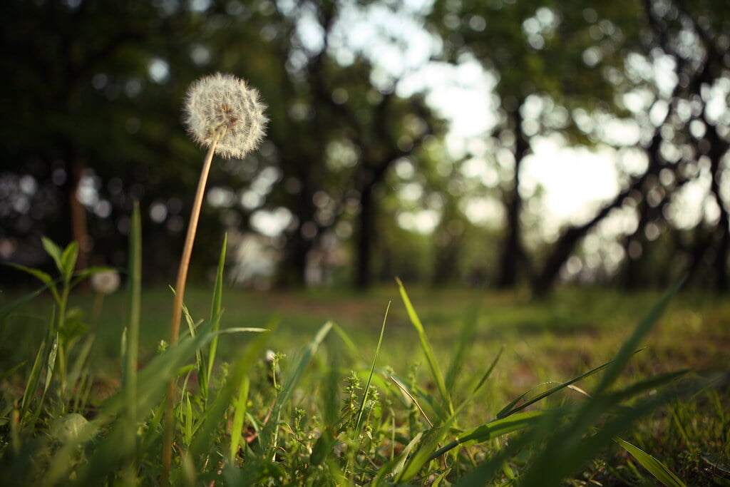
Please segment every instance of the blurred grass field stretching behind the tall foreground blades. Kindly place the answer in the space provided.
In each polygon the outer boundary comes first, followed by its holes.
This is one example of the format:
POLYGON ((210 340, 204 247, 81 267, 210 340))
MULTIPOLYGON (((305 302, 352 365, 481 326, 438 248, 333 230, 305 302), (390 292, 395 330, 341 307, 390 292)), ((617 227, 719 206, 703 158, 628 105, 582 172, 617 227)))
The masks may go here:
MULTIPOLYGON (((560 288, 549 299, 535 301, 520 292, 405 285, 437 362, 446 369, 455 356, 460 356, 461 371, 453 390, 455 401, 469 396, 467 384, 483 374, 502 350, 489 380, 460 416, 459 421, 464 425, 481 424, 495 418, 504 404, 525 391, 530 391, 526 398, 537 396, 551 385, 610 361, 643 315, 661 298, 659 291, 626 294, 604 288, 560 288), (466 343, 460 339, 464 329, 469 329, 466 343)), ((4 291, 2 296, 7 303, 20 294, 4 291)), ((207 318, 210 313, 207 287, 189 288, 185 301, 193 321, 207 318)), ((0 345, 3 371, 24 360, 32 360, 52 305, 48 296, 39 296, 4 320, 0 345)), ((144 311, 139 323, 140 369, 158 354, 160 341, 167 338, 171 306, 169 288, 143 290, 144 311)), ((105 296, 101 306, 99 296, 91 291, 72 294, 69 300, 69 310, 77 310, 80 322, 87 323, 96 337, 90 358, 90 368, 96 375, 91 395, 98 395, 99 400, 112 394, 120 385, 123 370, 120 347, 126 307, 126 294, 122 291, 105 296)), ((340 333, 329 334, 304 372, 301 385, 293 394, 294 410, 299 407, 303 411, 316 410, 307 391, 317 396, 335 387, 344 398, 347 372, 366 373, 377 350, 376 375, 380 374, 381 378, 389 374, 412 377, 427 394, 436 394, 437 384, 429 375, 423 349, 418 345, 418 334, 395 284, 366 293, 329 288, 265 293, 233 288, 223 290, 221 329, 275 327, 266 339, 267 347, 283 354, 279 366, 284 373, 295 367, 293 364, 304 345, 326 322, 336 323, 340 333), (378 338, 389 303, 379 349, 378 338), (333 380, 327 372, 333 355, 345 357, 341 363, 337 362, 342 369, 334 380, 339 383, 325 387, 323 381, 333 380)), ((244 353, 245 346, 254 340, 250 334, 226 337, 218 345, 216 371, 220 364, 236 361, 244 353)), ((726 372, 730 357, 730 300, 697 290, 674 296, 653 329, 643 338, 641 346, 642 350, 628 361, 618 377, 618 385, 679 369, 690 369, 687 377, 710 377, 726 372)), ((264 364, 263 357, 259 362, 264 364)), ((227 367, 223 365, 224 370, 227 367)), ((599 380, 599 375, 586 377, 576 384, 580 388, 578 391, 556 394, 548 404, 577 404, 584 399, 580 391, 590 392, 599 380)), ((377 388, 382 383, 374 384, 377 388)), ((22 383, 4 379, 6 393, 14 387, 20 388, 22 393, 22 383)), ((261 416, 266 414, 264 402, 259 404, 264 408, 258 412, 261 416)), ((255 402, 252 406, 255 407, 255 402)), ((643 418, 622 438, 664 462, 686 485, 728 485, 729 411, 727 384, 707 388, 678 396, 643 418)), ((475 454, 477 458, 472 459, 475 465, 484 454, 488 453, 475 454)), ((515 472, 521 468, 518 459, 510 465, 515 472)), ((509 475, 503 477, 507 478, 504 481, 509 480, 509 475)), ((567 482, 574 485, 643 485, 655 480, 626 450, 613 445, 604 448, 601 455, 581 472, 574 472, 567 482)), ((421 483, 432 481, 434 478, 421 479, 421 483)))

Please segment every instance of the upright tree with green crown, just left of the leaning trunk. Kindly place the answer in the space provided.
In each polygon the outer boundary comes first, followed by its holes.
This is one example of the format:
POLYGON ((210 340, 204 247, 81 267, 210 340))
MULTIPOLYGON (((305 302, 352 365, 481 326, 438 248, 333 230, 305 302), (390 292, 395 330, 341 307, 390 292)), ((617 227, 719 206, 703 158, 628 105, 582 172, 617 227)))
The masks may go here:
MULTIPOLYGON (((613 105, 613 86, 602 69, 623 62, 614 38, 626 33, 607 22, 604 11, 616 14, 625 11, 625 5, 437 1, 429 15, 431 28, 445 37, 447 58, 458 61, 472 55, 496 79, 494 93, 499 96, 501 117, 496 131, 513 159, 511 180, 502 184, 506 229, 497 279, 502 287, 518 283, 530 266, 520 224, 520 168, 531 150, 529 139, 557 131, 567 142, 587 143, 570 111, 613 105), (595 29, 605 36, 601 45, 591 39, 595 29), (590 50, 599 46, 603 50, 590 50), (602 64, 586 53, 600 55, 602 64), (531 110, 531 101, 537 99, 552 104, 552 112, 531 110)), ((631 10, 623 15, 631 15, 631 10)))

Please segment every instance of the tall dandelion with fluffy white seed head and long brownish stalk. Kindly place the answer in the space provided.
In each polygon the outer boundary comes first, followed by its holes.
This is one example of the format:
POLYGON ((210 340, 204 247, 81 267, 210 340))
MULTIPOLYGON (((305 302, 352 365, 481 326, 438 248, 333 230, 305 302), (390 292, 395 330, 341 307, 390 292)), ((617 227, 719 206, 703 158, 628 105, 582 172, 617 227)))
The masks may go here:
MULTIPOLYGON (((188 279, 188 266, 193 253, 193 242, 198 228, 203 194, 213 154, 225 158, 243 158, 261 143, 264 138, 266 107, 258 99, 258 91, 249 88, 244 80, 232 74, 213 74, 201 78, 191 85, 185 99, 185 125, 193 139, 208 153, 200 173, 198 189, 193 202, 188 234, 185 236, 183 256, 177 271, 175 299, 172 305, 172 325, 170 326, 170 345, 177 342, 180 334, 180 319, 183 315, 183 297, 188 279)), ((162 448, 161 485, 169 484, 172 466, 172 433, 174 428, 172 402, 174 399, 174 378, 167 389, 165 413, 165 437, 162 448)))

